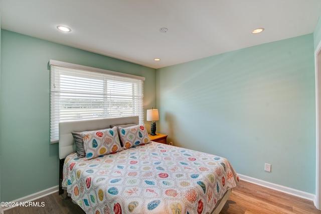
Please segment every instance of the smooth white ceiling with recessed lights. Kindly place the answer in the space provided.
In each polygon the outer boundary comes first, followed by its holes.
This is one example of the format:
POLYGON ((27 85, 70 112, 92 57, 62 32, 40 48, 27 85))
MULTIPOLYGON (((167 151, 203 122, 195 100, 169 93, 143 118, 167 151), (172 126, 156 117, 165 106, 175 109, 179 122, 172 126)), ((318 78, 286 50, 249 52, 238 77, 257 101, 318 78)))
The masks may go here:
POLYGON ((321 15, 320 0, 0 0, 0 7, 2 29, 151 68, 313 33, 321 15), (265 31, 254 35, 255 28, 265 31))

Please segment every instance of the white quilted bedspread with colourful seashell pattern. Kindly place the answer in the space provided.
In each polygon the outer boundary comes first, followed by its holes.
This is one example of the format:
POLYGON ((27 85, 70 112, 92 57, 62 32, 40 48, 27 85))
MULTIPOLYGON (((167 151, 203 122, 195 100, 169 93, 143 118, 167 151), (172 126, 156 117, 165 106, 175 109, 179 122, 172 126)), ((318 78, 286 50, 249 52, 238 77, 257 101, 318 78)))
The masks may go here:
POLYGON ((86 160, 66 157, 63 187, 86 213, 210 213, 239 177, 212 154, 151 142, 86 160))

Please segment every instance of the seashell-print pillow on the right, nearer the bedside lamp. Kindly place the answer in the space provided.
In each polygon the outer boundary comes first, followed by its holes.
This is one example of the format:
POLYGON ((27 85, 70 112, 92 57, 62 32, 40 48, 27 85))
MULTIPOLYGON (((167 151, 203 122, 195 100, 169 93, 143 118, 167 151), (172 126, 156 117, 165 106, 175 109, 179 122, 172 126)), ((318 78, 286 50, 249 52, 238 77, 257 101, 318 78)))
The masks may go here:
POLYGON ((127 128, 118 127, 118 131, 124 149, 150 142, 145 125, 136 125, 127 128))

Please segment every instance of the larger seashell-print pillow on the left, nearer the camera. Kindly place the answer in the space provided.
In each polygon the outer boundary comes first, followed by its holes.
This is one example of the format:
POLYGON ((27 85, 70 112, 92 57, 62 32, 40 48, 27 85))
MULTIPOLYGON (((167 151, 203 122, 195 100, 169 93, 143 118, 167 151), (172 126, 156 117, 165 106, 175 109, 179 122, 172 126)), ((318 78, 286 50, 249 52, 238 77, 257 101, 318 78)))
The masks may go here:
POLYGON ((117 128, 81 132, 86 159, 121 151, 117 128))

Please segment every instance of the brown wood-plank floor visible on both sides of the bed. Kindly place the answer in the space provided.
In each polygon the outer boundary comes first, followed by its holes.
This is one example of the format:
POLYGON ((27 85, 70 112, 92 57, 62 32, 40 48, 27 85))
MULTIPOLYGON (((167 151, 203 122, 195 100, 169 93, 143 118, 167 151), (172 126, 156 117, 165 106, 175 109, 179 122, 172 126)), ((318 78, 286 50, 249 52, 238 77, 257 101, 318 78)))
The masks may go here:
MULTIPOLYGON (((73 214, 84 211, 71 199, 66 199, 66 193, 59 195, 58 192, 35 200, 45 202, 44 207, 15 207, 8 209, 4 214, 73 214)), ((320 213, 313 202, 298 198, 279 191, 271 190, 245 181, 240 181, 233 188, 232 193, 224 205, 220 214, 252 214, 252 213, 320 213)))

